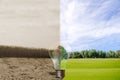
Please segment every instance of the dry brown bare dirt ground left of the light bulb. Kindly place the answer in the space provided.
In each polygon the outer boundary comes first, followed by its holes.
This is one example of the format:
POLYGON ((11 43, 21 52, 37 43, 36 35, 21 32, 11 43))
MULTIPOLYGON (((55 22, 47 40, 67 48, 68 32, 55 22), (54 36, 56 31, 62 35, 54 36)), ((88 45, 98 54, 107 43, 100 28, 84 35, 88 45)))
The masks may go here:
POLYGON ((0 58, 0 80, 56 80, 50 58, 0 58))

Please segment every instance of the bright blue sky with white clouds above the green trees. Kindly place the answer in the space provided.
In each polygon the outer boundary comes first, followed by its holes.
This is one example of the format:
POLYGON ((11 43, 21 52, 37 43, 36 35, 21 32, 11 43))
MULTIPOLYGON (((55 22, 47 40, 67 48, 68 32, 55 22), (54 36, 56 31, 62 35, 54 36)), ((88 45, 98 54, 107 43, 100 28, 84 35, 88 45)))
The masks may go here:
POLYGON ((120 50, 120 0, 61 0, 60 39, 67 51, 120 50))

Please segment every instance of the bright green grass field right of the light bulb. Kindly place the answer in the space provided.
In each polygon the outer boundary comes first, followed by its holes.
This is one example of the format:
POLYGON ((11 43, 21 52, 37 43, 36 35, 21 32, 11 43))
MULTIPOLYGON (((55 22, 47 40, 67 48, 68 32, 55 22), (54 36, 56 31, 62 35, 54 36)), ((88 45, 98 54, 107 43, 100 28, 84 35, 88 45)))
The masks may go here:
POLYGON ((120 80, 120 59, 69 59, 61 67, 63 80, 120 80))

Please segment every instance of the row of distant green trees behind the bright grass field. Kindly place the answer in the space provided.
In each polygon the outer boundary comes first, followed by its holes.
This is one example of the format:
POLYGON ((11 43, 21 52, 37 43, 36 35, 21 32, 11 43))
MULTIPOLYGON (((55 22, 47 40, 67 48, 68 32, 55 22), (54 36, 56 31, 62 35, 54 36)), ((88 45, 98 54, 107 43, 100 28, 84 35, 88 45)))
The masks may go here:
POLYGON ((120 58, 120 50, 102 51, 102 50, 82 50, 70 53, 70 58, 120 58))

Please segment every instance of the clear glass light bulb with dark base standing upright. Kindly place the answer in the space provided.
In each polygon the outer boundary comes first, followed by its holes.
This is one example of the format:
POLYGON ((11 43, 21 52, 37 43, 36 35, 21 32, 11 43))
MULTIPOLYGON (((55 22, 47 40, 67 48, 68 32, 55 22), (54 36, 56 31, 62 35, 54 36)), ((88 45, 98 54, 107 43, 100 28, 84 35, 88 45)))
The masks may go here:
POLYGON ((63 46, 58 46, 57 49, 51 50, 49 52, 49 55, 53 61, 54 68, 56 70, 56 77, 62 79, 65 76, 65 70, 61 70, 61 62, 63 60, 63 63, 66 67, 66 61, 68 59, 68 54, 63 46))

